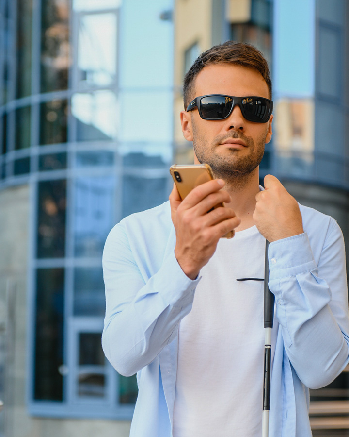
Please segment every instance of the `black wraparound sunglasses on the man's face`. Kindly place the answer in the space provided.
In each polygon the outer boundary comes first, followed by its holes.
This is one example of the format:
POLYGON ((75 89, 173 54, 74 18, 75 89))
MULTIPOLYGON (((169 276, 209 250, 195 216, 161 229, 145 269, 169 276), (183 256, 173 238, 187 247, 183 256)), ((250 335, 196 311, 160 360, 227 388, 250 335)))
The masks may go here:
POLYGON ((224 94, 207 94, 195 97, 190 102, 187 112, 195 107, 204 120, 223 120, 230 116, 235 105, 241 109, 246 120, 266 123, 272 113, 273 102, 264 97, 236 97, 224 94))

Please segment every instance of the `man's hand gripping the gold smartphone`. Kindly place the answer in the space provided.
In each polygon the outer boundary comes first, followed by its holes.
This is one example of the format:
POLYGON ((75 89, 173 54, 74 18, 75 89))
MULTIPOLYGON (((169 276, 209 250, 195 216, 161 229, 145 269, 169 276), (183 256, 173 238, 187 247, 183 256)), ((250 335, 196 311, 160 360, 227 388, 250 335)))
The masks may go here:
POLYGON ((207 264, 219 239, 240 224, 240 218, 231 208, 218 207, 210 211, 217 203, 231 202, 223 186, 222 179, 214 179, 195 187, 183 201, 175 185, 170 194, 176 232, 174 254, 190 279, 195 279, 207 264))

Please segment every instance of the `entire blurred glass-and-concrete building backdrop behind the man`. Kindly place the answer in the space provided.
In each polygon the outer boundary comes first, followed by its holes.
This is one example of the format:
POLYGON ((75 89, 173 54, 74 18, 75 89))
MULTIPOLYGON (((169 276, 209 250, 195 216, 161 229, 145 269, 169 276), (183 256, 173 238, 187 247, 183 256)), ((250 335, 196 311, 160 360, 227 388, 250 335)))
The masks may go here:
MULTIPOLYGON (((101 253, 192 161, 182 80, 213 44, 263 51, 275 119, 261 175, 348 244, 348 29, 346 0, 0 0, 0 436, 128 436, 137 386, 101 351, 101 253)), ((347 401, 346 375, 313 401, 347 401)))

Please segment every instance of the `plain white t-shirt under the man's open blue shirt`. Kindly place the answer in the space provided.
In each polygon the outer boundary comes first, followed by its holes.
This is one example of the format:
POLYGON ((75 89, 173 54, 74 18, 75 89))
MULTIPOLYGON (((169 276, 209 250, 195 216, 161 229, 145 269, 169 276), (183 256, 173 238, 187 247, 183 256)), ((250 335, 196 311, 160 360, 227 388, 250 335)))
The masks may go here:
MULTIPOLYGON (((260 437, 265 239, 221 239, 179 327, 173 437, 260 437)), ((272 356, 277 326, 272 331, 272 356)))

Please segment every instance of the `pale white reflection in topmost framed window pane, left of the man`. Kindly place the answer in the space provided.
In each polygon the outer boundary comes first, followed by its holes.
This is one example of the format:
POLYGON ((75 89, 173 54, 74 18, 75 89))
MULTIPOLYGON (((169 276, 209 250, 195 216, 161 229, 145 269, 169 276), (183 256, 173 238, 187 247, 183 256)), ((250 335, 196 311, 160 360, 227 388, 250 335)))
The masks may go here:
POLYGON ((86 86, 110 85, 116 75, 116 15, 83 15, 79 21, 78 74, 86 86))

